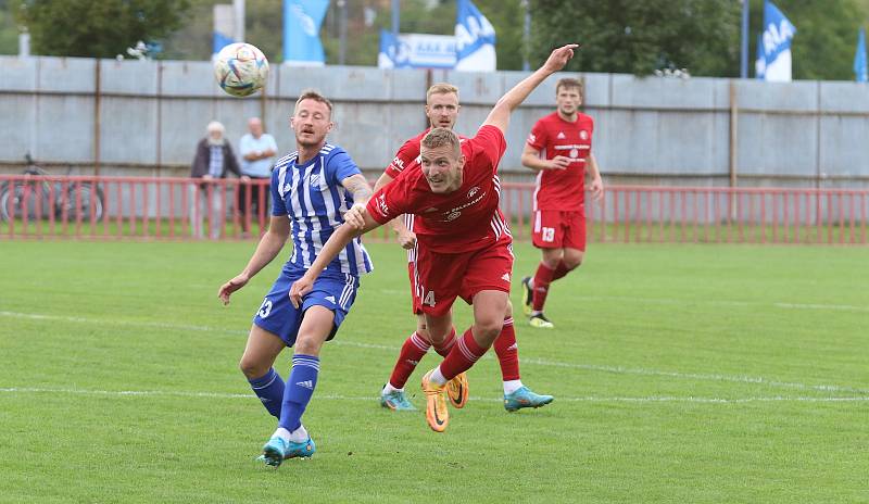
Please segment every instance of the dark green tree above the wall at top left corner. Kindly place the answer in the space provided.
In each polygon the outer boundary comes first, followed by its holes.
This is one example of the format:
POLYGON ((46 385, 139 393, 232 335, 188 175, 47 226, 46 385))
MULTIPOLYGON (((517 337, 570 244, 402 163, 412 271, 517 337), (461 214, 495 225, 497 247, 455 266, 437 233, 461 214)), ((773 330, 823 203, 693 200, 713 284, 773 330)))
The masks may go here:
POLYGON ((181 26, 188 0, 25 0, 13 5, 34 54, 114 58, 181 26))

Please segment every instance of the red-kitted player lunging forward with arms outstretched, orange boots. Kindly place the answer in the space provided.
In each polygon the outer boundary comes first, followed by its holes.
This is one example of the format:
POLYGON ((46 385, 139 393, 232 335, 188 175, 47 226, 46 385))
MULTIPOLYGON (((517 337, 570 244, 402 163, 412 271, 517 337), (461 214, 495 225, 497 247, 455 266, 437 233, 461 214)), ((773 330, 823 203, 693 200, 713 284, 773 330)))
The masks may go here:
POLYGON ((546 77, 564 68, 577 45, 550 54, 546 62, 507 91, 489 113, 477 135, 465 142, 448 128, 433 128, 420 147, 420 167, 405 169, 378 190, 364 207, 344 215, 316 261, 290 289, 300 303, 320 272, 353 237, 402 214, 414 214, 419 241, 417 272, 421 305, 432 341, 444 341, 453 327, 457 297, 474 305, 474 324, 457 339, 441 364, 423 377, 426 419, 442 432, 449 423, 446 382, 468 370, 499 338, 507 313, 512 237, 499 210, 498 164, 504 155, 504 131, 514 109, 546 77))

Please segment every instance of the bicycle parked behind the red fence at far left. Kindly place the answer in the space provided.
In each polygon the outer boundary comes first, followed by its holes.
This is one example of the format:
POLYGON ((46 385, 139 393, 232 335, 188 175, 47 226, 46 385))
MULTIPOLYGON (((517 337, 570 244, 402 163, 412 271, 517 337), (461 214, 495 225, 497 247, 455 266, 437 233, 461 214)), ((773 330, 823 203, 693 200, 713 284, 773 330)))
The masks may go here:
MULTIPOLYGON (((39 179, 7 181, 0 184, 0 219, 9 222, 12 217, 27 219, 63 218, 71 220, 101 220, 104 214, 105 197, 99 184, 91 181, 50 180, 48 173, 34 162, 30 154, 24 155, 27 165, 24 174, 39 179), (52 207, 53 206, 53 207, 52 207), (52 214, 49 213, 52 211, 52 214)), ((73 167, 66 171, 68 176, 73 167)))

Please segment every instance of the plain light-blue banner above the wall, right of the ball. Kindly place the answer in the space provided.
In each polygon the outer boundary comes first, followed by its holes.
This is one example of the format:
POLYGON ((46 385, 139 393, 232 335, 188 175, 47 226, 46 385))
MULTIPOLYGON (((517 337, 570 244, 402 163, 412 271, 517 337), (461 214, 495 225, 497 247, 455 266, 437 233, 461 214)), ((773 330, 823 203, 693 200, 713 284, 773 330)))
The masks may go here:
POLYGON ((323 66, 326 54, 319 27, 329 0, 284 0, 284 62, 323 66))

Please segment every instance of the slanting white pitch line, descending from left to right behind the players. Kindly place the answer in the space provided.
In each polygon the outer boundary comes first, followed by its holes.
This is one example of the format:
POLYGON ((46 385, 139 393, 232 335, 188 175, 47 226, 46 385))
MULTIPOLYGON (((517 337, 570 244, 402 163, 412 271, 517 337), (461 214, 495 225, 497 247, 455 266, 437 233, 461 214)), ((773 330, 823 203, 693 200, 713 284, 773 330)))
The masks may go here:
MULTIPOLYGON (((60 316, 60 315, 41 315, 41 314, 28 314, 28 313, 17 313, 17 312, 3 312, 0 311, 0 317, 11 317, 11 318, 27 318, 34 320, 59 320, 59 322, 70 322, 70 323, 79 323, 79 324, 111 324, 111 325, 119 325, 119 326, 130 326, 130 327, 152 327, 156 329, 172 329, 172 330, 181 330, 181 331, 196 331, 196 332, 211 332, 211 333, 222 333, 222 335, 235 335, 235 336, 243 336, 247 335, 247 331, 238 330, 238 329, 226 329, 226 328, 215 328, 209 326, 196 326, 196 325, 185 325, 185 324, 167 324, 167 323, 154 323, 154 322, 129 322, 129 320, 112 320, 112 319, 98 319, 98 318, 86 318, 86 317, 71 317, 71 316, 60 316)), ((396 352, 399 349, 398 343, 395 345, 385 345, 385 344, 374 344, 374 343, 363 343, 356 341, 348 341, 348 340, 335 340, 331 344, 337 344, 341 346, 355 346, 355 348, 363 348, 363 349, 375 349, 375 350, 385 350, 389 352, 396 352)), ((493 358, 491 356, 491 352, 488 353, 484 358, 493 358)), ((530 365, 539 365, 544 367, 561 367, 561 368, 569 368, 569 369, 582 369, 588 371, 602 371, 602 373, 613 373, 618 375, 640 375, 640 376, 660 376, 660 377, 668 377, 668 378, 680 378, 680 379, 690 379, 690 380, 698 380, 698 381, 725 381, 725 382, 732 382, 732 383, 755 383, 755 385, 765 385, 768 387, 778 387, 778 388, 789 388, 789 389, 797 389, 797 390, 815 390, 815 391, 822 391, 822 392, 844 392, 844 393, 859 393, 859 394, 869 394, 869 389, 859 389, 853 387, 843 387, 843 386, 835 386, 835 385, 807 385, 807 383, 798 383, 798 382, 788 382, 788 381, 778 381, 778 380, 770 380, 763 377, 753 377, 753 376, 735 376, 735 375, 720 375, 720 374, 703 374, 703 373, 679 373, 679 371, 666 371, 659 369, 646 369, 646 368, 632 368, 632 367, 622 367, 622 366, 605 366, 605 365, 596 365, 596 364, 578 364, 578 363, 565 363, 565 362, 557 362, 557 361, 547 361, 542 358, 528 358, 522 357, 521 364, 530 364, 530 365)))

